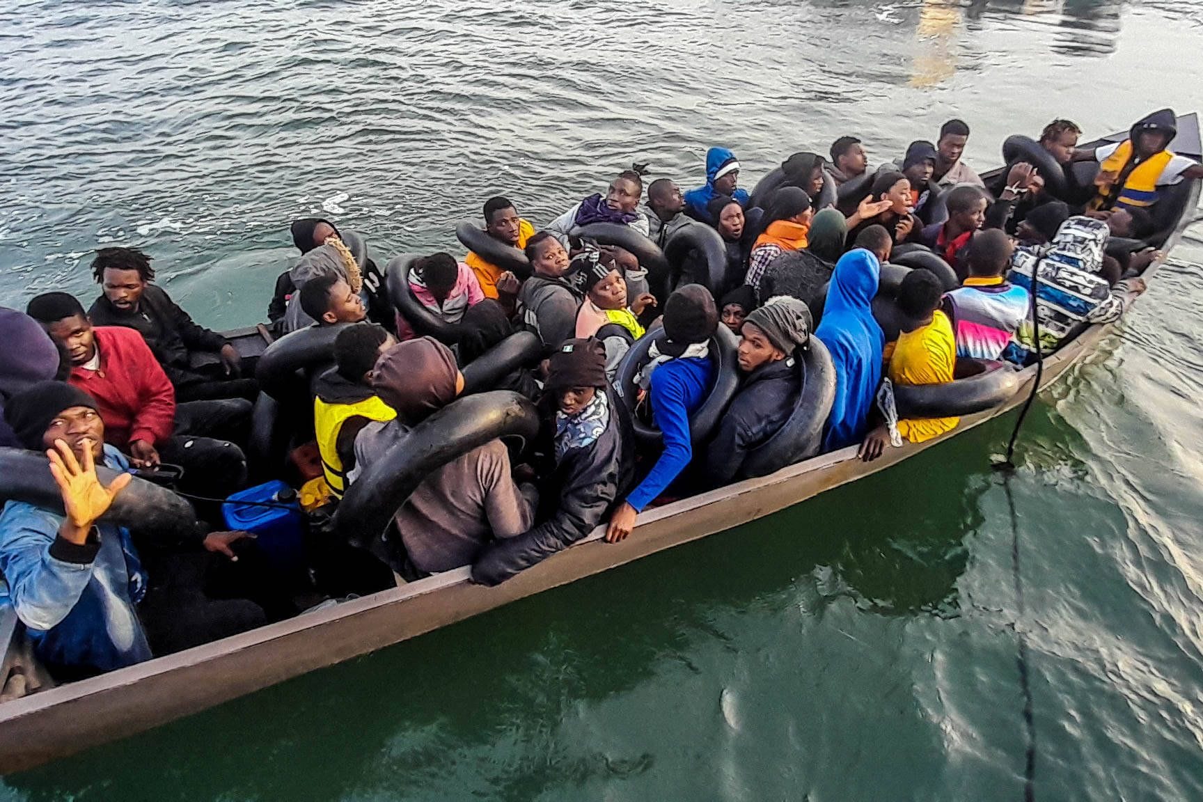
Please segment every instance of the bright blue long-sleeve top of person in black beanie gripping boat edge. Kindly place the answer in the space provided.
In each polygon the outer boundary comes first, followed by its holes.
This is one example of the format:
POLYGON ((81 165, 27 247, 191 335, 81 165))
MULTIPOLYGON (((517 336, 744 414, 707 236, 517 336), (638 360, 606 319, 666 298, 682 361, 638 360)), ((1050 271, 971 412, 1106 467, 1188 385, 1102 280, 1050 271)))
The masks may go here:
POLYGON ((713 364, 704 357, 670 360, 652 372, 652 421, 664 435, 664 451, 652 471, 627 497, 627 504, 636 512, 642 512, 693 459, 689 416, 706 399, 713 372, 713 364))

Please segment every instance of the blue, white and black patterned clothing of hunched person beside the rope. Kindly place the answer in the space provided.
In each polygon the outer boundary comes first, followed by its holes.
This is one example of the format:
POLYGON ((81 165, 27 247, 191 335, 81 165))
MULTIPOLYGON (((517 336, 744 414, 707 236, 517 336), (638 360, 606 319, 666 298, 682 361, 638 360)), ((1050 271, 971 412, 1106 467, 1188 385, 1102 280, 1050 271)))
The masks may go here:
MULTIPOLYGON (((1045 356, 1085 326, 1119 320, 1144 292, 1145 283, 1139 277, 1116 281, 1119 265, 1114 260, 1108 265, 1107 237, 1106 222, 1079 215, 1061 224, 1048 245, 1015 249, 1011 281, 1031 292, 1032 274, 1039 277, 1036 308, 1041 350, 1045 356)), ((1027 364, 1035 358, 1035 350, 1029 309, 1003 356, 1017 364, 1027 364)))

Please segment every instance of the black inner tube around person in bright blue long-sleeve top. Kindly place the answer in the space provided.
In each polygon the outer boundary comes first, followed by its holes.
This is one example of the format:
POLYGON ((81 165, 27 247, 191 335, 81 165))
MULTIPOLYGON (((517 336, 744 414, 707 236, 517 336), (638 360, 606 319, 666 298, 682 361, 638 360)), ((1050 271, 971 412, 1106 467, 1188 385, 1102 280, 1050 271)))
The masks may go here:
MULTIPOLYGON (((639 370, 648 362, 648 350, 652 343, 663 343, 664 328, 654 326, 646 334, 640 337, 630 346, 614 378, 615 393, 622 400, 623 406, 630 415, 632 428, 635 432, 635 440, 644 446, 659 446, 664 442, 664 435, 656 427, 645 423, 635 415, 635 405, 639 400, 639 385, 636 376, 639 370)), ((713 433, 722 420, 727 406, 735 398, 740 388, 740 369, 736 363, 739 340, 729 328, 718 326, 715 335, 710 338, 710 358, 715 363, 715 384, 701 405, 689 416, 689 435, 694 444, 704 442, 713 433)))

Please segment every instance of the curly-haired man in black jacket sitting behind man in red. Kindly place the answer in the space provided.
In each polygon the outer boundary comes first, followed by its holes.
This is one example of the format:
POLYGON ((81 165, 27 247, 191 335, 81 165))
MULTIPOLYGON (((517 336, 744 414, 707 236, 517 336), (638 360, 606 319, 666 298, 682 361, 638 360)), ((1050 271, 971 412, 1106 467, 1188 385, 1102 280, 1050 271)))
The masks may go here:
POLYGON ((132 328, 159 360, 179 400, 245 398, 254 400, 259 385, 242 379, 242 357, 226 338, 192 321, 171 296, 154 284, 150 257, 137 248, 101 248, 91 274, 103 292, 88 315, 96 326, 132 328), (191 367, 196 354, 215 354, 220 372, 191 367))

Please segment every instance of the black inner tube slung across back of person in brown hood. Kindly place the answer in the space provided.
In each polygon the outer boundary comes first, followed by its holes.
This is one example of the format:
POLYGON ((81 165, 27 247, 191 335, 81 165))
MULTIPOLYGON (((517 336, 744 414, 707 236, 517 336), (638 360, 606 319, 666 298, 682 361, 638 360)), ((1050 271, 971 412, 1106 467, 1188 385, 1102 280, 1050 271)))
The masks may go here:
POLYGON ((494 390, 458 398, 410 429, 363 471, 327 527, 351 545, 367 547, 431 473, 491 440, 531 440, 538 433, 538 410, 515 392, 494 390))

